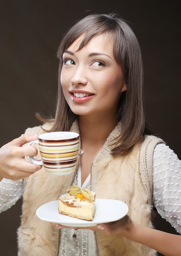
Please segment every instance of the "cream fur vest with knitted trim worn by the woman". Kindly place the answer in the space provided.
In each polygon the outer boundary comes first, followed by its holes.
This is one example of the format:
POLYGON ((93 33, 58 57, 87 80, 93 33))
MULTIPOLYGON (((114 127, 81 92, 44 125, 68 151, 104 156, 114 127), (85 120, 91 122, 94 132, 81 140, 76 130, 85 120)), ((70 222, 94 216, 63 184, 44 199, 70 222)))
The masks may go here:
MULTIPOLYGON (((44 125, 50 129, 50 124, 44 125)), ((79 133, 75 121, 72 131, 79 133)), ((110 133, 102 149, 96 155, 91 171, 91 189, 96 198, 117 199, 128 204, 128 214, 135 222, 152 227, 152 157, 153 150, 163 141, 145 136, 126 156, 112 157, 110 141, 121 132, 119 123, 110 133)), ((44 133, 42 128, 28 128, 26 133, 44 133)), ((29 159, 28 159, 29 161, 29 159)), ((18 229, 18 256, 57 256, 60 232, 49 222, 40 220, 35 211, 42 204, 57 200, 70 186, 75 173, 65 176, 48 174, 44 168, 24 181, 21 226, 18 229)), ((96 232, 99 256, 154 256, 149 247, 127 240, 119 235, 106 236, 96 232)))

